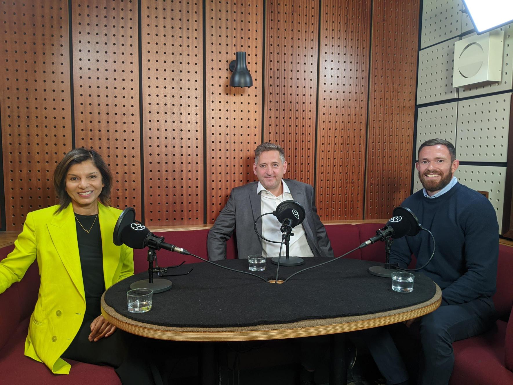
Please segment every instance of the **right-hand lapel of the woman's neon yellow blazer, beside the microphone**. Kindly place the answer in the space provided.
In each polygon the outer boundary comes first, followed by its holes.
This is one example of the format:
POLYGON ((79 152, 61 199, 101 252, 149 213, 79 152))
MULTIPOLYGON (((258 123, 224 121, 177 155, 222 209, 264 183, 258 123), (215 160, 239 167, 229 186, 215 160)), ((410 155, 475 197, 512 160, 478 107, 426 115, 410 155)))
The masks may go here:
POLYGON ((117 217, 112 215, 108 207, 98 203, 98 220, 102 233, 103 276, 105 287, 109 288, 114 283, 114 273, 120 260, 121 247, 116 246, 112 239, 117 217))

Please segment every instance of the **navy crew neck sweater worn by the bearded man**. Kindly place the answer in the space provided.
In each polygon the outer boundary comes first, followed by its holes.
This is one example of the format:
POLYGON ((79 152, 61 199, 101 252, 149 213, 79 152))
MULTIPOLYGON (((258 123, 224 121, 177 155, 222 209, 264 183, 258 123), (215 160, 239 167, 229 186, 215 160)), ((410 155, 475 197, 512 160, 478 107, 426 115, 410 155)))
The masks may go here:
MULTIPOLYGON (((435 199, 423 191, 406 198, 419 222, 435 237, 436 252, 420 272, 442 289, 446 304, 490 298, 496 291, 499 256, 499 225, 494 207, 479 192, 457 183, 435 199)), ((411 254, 417 267, 424 265, 433 251, 429 234, 397 239, 392 244, 390 262, 407 267, 411 254)))

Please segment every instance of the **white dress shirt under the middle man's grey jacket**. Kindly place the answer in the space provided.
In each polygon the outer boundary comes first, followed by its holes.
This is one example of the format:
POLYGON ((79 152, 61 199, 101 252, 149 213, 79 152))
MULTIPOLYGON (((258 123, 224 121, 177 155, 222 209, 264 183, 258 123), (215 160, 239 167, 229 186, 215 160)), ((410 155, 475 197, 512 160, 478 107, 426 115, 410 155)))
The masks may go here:
MULTIPOLYGON (((283 202, 293 200, 290 189, 285 181, 282 179, 283 194, 279 197, 274 196, 272 192, 265 189, 260 182, 258 182, 257 194, 261 197, 261 214, 272 213, 276 207, 283 202)), ((282 232, 280 227, 282 224, 274 215, 265 215, 262 220, 262 236, 271 241, 282 240, 282 232)), ((290 237, 289 255, 291 257, 313 257, 312 250, 306 240, 305 228, 303 224, 292 228, 293 236, 290 237)), ((278 257, 280 253, 280 243, 267 242, 262 239, 262 255, 265 257, 278 257)), ((282 256, 285 256, 285 243, 283 243, 282 256)))

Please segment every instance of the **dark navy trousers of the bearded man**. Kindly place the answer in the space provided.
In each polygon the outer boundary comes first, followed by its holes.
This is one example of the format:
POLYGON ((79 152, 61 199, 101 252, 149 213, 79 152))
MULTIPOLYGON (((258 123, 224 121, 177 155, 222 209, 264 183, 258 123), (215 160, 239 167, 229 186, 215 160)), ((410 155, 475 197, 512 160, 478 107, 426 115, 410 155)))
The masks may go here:
MULTIPOLYGON (((421 343, 418 384, 447 384, 454 366, 452 342, 484 333, 495 321, 495 315, 492 301, 478 298, 440 306, 413 323, 409 330, 404 326, 402 331, 417 336, 421 343)), ((406 381, 408 372, 388 328, 360 333, 387 384, 406 381)))

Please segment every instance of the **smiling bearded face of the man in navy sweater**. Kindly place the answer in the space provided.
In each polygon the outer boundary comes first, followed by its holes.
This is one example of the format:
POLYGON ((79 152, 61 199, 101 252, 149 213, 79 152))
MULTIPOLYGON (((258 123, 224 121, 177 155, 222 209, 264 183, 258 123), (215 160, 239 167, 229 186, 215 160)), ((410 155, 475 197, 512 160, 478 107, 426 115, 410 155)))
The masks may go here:
POLYGON ((451 162, 449 150, 443 144, 423 147, 416 167, 427 194, 431 197, 447 186, 459 165, 457 159, 451 162))

